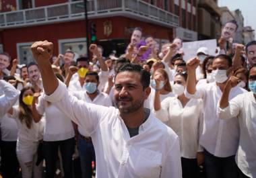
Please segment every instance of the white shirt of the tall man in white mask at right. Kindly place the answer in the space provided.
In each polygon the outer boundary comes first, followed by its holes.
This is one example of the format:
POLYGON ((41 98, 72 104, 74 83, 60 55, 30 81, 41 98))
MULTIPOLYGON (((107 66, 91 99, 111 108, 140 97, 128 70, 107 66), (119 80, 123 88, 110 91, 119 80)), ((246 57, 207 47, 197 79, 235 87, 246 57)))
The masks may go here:
MULTIPOLYGON (((185 89, 188 98, 203 99, 203 132, 199 144, 216 157, 230 157, 236 154, 239 140, 239 126, 236 119, 219 120, 216 111, 217 103, 222 96, 216 82, 197 86, 197 91, 191 95, 185 89)), ((230 91, 229 99, 245 93, 245 89, 234 87, 230 91)))

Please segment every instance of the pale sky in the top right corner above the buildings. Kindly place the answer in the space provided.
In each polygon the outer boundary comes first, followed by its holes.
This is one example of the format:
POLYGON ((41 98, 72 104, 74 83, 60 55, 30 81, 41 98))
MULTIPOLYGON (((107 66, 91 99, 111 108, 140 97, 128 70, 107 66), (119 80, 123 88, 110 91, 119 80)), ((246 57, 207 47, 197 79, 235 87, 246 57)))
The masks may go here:
POLYGON ((256 0, 218 0, 218 6, 226 6, 230 11, 240 9, 244 17, 244 26, 251 26, 256 30, 256 0))

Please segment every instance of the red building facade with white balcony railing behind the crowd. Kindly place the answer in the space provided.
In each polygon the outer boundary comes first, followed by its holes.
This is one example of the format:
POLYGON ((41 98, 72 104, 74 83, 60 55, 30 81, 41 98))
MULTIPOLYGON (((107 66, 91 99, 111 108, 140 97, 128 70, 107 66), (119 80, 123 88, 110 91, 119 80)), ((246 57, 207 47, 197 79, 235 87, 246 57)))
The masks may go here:
MULTIPOLYGON (((12 58, 18 56, 21 63, 30 62, 29 47, 37 40, 53 42, 55 55, 67 49, 78 55, 87 54, 84 1, 11 0, 6 3, 0 0, 0 3, 0 44, 12 58)), ((143 29, 143 35, 154 36, 160 44, 172 40, 183 24, 181 17, 174 15, 174 3, 177 1, 95 0, 86 5, 88 19, 96 24, 97 43, 106 53, 117 50, 122 54, 133 28, 138 26, 143 29)), ((184 9, 182 5, 179 8, 184 9)), ((193 30, 193 26, 185 28, 193 30)))

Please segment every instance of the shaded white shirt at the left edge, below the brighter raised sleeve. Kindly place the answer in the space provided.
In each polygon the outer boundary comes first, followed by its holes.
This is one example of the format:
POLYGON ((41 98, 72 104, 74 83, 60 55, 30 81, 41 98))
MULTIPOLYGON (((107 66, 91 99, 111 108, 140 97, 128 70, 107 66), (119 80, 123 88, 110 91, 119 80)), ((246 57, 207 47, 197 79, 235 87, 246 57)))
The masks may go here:
POLYGON ((9 114, 0 118, 1 139, 7 142, 15 142, 18 137, 18 126, 9 114))

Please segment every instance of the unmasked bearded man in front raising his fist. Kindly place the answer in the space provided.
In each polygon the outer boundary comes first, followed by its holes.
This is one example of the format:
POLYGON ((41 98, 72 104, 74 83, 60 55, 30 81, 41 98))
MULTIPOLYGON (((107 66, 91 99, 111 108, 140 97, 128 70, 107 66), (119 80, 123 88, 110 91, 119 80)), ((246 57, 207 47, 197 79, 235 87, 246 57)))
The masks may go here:
POLYGON ((150 95, 150 73, 126 64, 115 76, 118 109, 94 105, 73 97, 57 80, 49 62, 51 42, 35 42, 31 49, 42 75, 44 98, 91 136, 96 177, 181 177, 178 136, 143 108, 150 95))

